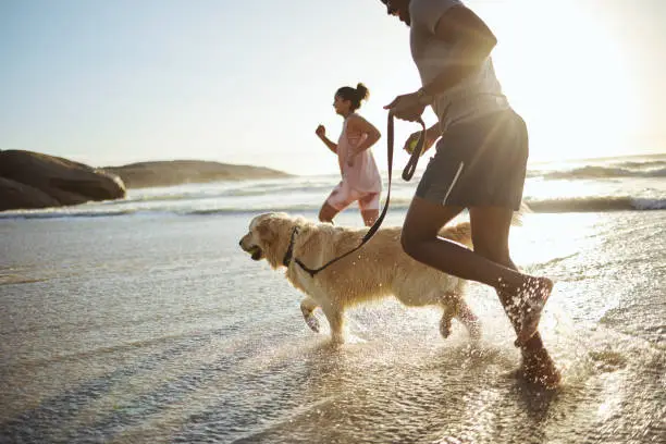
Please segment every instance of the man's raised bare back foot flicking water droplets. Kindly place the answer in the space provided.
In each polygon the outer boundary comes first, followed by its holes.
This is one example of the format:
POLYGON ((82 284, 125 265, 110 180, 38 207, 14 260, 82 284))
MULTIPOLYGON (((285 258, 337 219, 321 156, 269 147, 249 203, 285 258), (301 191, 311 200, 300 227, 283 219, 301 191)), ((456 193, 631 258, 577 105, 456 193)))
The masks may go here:
POLYGON ((530 279, 529 283, 519 289, 516 297, 521 317, 518 320, 516 347, 525 345, 536 333, 541 312, 552 292, 553 281, 547 278, 530 279))

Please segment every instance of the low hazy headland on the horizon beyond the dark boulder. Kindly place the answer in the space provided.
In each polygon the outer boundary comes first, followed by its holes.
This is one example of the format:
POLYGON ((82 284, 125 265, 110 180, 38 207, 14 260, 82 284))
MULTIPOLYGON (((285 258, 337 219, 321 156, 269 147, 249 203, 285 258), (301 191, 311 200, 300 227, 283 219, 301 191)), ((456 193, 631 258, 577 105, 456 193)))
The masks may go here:
POLYGON ((119 175, 127 188, 291 176, 282 171, 262 166, 233 165, 200 160, 139 162, 123 166, 104 166, 102 170, 119 175))

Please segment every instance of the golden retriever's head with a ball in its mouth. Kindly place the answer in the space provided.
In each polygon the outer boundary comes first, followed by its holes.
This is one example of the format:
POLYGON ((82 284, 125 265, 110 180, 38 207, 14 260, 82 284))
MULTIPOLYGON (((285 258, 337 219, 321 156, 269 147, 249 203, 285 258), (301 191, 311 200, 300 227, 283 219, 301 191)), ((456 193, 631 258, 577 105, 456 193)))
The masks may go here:
POLYGON ((250 221, 248 233, 239 245, 254 260, 266 259, 278 268, 288 247, 294 221, 285 213, 266 213, 250 221))

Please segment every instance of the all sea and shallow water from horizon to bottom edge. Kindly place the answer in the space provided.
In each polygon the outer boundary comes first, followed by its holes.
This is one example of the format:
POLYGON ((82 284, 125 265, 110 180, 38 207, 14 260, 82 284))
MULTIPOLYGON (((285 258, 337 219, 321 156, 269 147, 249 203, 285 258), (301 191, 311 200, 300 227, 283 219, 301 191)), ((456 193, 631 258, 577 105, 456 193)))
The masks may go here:
MULTIPOLYGON (((0 442, 666 442, 666 156, 529 172, 533 212, 510 242, 556 281, 541 324, 554 391, 514 377, 508 321, 474 283, 478 347, 391 299, 351 310, 342 347, 311 332, 301 294, 237 244, 263 211, 316 218, 335 183, 0 213, 0 442)), ((396 180, 386 225, 415 186, 396 180)))

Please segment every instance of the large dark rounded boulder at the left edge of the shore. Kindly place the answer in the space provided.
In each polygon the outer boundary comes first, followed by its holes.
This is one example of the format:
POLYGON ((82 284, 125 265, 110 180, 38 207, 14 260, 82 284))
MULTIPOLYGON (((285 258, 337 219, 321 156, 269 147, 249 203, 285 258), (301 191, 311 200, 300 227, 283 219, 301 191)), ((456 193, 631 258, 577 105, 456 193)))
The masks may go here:
POLYGON ((125 185, 116 175, 33 151, 0 151, 0 211, 125 196, 125 185))

